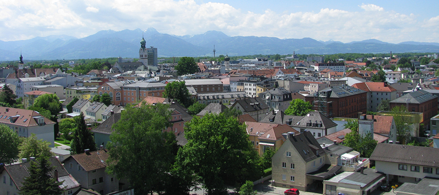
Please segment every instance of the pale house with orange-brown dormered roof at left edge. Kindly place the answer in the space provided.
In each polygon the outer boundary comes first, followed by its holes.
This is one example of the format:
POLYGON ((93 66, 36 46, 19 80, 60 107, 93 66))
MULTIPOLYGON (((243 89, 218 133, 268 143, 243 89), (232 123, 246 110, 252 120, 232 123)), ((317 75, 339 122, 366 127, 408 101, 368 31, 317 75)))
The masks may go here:
POLYGON ((55 123, 33 110, 0 107, 0 123, 14 130, 20 137, 30 137, 35 134, 38 139, 50 143, 54 147, 55 123))

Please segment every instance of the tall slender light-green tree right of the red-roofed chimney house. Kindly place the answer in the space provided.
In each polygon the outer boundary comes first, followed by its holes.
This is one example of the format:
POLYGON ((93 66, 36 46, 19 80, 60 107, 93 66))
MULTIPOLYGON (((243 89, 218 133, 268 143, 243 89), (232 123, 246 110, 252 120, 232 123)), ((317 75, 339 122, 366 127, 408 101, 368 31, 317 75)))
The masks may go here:
POLYGON ((412 128, 408 124, 410 121, 409 113, 407 107, 400 105, 395 106, 391 109, 390 114, 395 120, 395 126, 397 129, 397 140, 399 143, 404 144, 405 140, 410 137, 412 128))

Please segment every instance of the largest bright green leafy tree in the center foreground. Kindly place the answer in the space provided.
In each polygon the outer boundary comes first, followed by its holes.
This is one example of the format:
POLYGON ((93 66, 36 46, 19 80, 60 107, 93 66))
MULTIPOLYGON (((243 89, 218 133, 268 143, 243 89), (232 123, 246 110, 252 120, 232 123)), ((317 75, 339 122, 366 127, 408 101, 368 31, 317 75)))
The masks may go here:
POLYGON ((176 164, 191 170, 208 195, 224 193, 225 184, 261 176, 259 155, 248 140, 245 124, 236 117, 222 113, 194 117, 184 133, 187 144, 179 150, 176 164))

